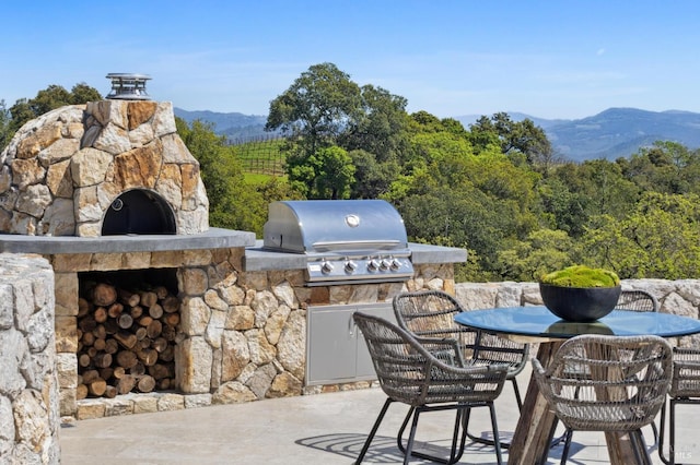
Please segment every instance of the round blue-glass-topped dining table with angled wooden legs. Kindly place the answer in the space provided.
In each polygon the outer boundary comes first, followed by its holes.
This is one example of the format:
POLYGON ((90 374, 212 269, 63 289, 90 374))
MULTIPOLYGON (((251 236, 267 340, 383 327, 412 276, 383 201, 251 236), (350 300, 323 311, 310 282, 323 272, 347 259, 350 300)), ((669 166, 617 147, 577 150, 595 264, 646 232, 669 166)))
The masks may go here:
MULTIPOLYGON (((560 320, 544 306, 471 310, 458 313, 455 322, 521 343, 539 343, 537 359, 542 367, 549 365, 563 341, 581 334, 678 337, 700 333, 699 320, 670 313, 614 310, 595 322, 576 323, 560 320)), ((508 463, 546 463, 556 427, 557 417, 530 377, 508 463)), ((634 463, 634 449, 644 448, 645 451, 641 431, 634 434, 607 432, 605 437, 610 464, 634 463)), ((644 452, 643 455, 651 464, 648 454, 644 452)))

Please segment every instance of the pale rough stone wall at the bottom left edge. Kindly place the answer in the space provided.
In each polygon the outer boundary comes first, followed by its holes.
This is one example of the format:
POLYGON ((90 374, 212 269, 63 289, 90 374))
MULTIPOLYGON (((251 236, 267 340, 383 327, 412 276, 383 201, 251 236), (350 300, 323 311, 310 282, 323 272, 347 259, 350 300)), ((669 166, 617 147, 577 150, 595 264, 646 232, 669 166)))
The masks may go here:
POLYGON ((0 254, 0 462, 58 464, 54 272, 38 257, 0 254))

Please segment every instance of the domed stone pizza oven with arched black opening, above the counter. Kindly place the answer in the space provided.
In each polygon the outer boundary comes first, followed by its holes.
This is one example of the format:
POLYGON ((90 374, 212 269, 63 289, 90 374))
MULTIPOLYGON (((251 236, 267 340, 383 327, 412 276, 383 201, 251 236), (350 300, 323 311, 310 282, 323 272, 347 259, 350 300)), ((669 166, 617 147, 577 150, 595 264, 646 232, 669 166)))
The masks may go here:
POLYGON ((199 164, 176 133, 170 103, 58 108, 24 126, 1 162, 4 233, 189 235, 209 227, 199 164))

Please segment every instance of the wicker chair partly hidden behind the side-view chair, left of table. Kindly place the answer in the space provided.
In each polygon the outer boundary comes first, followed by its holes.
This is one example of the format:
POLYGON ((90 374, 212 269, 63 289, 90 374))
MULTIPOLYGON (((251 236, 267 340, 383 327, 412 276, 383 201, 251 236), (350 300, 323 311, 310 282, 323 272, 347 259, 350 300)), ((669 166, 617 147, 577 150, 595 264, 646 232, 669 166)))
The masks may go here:
MULTIPOLYGON (((462 348, 459 354, 463 362, 505 363, 508 366, 506 380, 512 382, 517 408, 522 409, 523 401, 516 377, 527 363, 529 351, 527 344, 515 343, 494 334, 457 324, 454 320, 455 315, 465 310, 454 297, 441 290, 402 293, 394 297, 393 305, 399 326, 417 337, 456 341, 462 348)), ((469 439, 493 445, 493 441, 477 437, 468 431, 468 419, 467 413, 465 428, 469 439)), ((502 448, 510 446, 509 442, 500 442, 502 448)))

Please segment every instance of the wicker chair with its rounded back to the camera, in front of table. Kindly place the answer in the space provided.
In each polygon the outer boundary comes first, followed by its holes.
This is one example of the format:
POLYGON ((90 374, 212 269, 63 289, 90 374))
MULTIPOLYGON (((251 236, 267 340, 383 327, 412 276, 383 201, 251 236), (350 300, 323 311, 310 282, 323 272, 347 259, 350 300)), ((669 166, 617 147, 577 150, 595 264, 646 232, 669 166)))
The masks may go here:
MULTIPOLYGON (((564 464, 574 430, 632 432, 654 421, 670 384, 672 348, 658 336, 586 334, 562 343, 547 369, 533 359, 533 374, 567 427, 564 464)), ((635 453, 637 463, 648 455, 635 453)))

